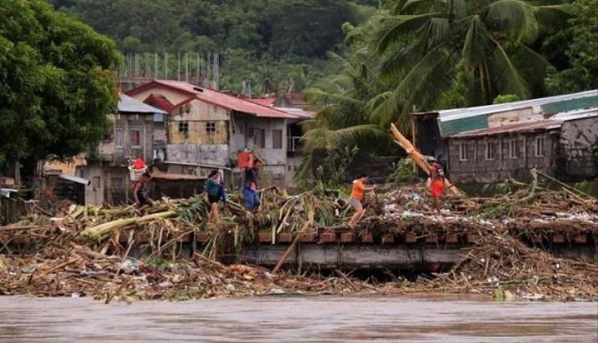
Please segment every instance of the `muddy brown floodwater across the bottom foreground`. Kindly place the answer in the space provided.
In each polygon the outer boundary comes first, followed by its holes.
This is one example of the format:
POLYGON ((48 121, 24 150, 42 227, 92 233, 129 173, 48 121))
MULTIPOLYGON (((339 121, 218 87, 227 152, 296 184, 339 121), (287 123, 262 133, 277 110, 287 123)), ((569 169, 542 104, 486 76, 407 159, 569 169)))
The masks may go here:
POLYGON ((0 297, 0 342, 598 342, 598 304, 268 296, 0 297))

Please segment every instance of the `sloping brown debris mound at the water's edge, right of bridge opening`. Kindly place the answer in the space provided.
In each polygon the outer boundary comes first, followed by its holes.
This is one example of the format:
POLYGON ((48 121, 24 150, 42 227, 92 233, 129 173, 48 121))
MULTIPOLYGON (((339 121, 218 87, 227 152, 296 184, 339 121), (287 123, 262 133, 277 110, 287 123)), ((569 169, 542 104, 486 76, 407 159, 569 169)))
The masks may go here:
POLYGON ((488 230, 432 289, 492 294, 498 299, 598 300, 598 265, 529 247, 509 234, 488 230))

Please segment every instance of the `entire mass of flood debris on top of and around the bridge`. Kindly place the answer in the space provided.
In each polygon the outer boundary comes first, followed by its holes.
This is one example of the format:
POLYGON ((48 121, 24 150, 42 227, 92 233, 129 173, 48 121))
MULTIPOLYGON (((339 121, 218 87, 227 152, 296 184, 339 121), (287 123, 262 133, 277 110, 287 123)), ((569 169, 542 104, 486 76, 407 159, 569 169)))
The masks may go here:
MULTIPOLYGON (((373 285, 338 271, 338 277, 272 274, 260 267, 222 265, 215 250, 234 233, 235 248, 255 241, 256 233, 328 231, 344 228, 352 211, 344 197, 313 192, 289 196, 276 188, 262 191, 263 206, 245 212, 238 195, 228 199, 220 225, 208 225, 208 204, 201 196, 162 199, 140 216, 132 207, 66 206, 56 217, 35 216, 0 230, 0 294, 89 295, 123 299, 186 299, 312 292, 401 294, 478 292, 497 298, 598 300, 598 265, 555 258, 529 247, 521 230, 547 234, 590 232, 598 236, 595 199, 571 192, 519 191, 494 198, 447 196, 447 210, 434 213, 423 186, 406 186, 366 199, 359 232, 414 232, 418 235, 475 232, 476 245, 461 263, 432 280, 373 285), (203 253, 177 259, 179 238, 208 233, 203 253), (134 233, 134 234, 133 234, 134 233), (131 258, 135 237, 151 239, 148 254, 131 258), (30 237, 30 254, 16 256, 14 239, 30 237), (126 236, 126 245, 122 237, 126 236), (124 248, 127 247, 128 248, 124 248)), ((596 241, 596 239, 595 239, 596 241)), ((17 242, 18 243, 18 242, 17 242)), ((196 250, 197 251, 197 250, 196 250)))

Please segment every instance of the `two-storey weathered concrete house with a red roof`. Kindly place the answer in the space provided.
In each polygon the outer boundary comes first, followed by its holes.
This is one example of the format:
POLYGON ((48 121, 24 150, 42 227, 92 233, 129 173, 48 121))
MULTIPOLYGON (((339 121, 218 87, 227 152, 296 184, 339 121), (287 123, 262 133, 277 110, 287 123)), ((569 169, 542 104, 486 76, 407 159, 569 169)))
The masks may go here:
POLYGON ((188 82, 152 80, 126 92, 166 111, 166 160, 169 173, 206 175, 230 170, 239 185, 237 153, 254 148, 265 162, 261 186, 285 185, 287 126, 299 119, 285 111, 188 82))

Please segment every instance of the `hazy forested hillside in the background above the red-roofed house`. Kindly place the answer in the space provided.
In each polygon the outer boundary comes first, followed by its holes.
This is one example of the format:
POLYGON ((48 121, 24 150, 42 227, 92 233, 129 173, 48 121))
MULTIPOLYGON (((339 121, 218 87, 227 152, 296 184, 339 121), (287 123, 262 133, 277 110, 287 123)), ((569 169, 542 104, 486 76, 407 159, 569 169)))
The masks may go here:
POLYGON ((221 88, 302 90, 335 69, 345 22, 360 23, 375 0, 52 0, 115 39, 124 54, 221 55, 221 88))

